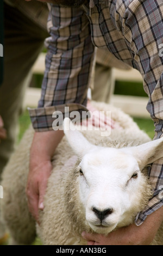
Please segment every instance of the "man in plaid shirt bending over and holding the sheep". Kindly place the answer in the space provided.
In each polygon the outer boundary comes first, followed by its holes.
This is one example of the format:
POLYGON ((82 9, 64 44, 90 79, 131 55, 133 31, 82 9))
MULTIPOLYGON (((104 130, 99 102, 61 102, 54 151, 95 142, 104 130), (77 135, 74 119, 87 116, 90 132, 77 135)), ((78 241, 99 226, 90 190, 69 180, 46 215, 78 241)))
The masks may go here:
MULTIPOLYGON (((29 209, 37 221, 38 205, 43 209, 43 195, 52 170, 51 157, 64 136, 62 131, 52 130, 52 113, 64 112, 64 106, 69 106, 70 111, 85 109, 94 46, 105 48, 141 72, 149 96, 147 109, 155 123, 155 138, 162 135, 163 123, 163 68, 158 54, 163 38, 163 3, 151 0, 51 2, 48 4, 51 37, 46 40, 48 53, 42 96, 39 107, 29 111, 36 132, 30 151, 27 196, 29 209)), ((153 163, 150 178, 154 196, 135 224, 108 237, 83 234, 89 245, 149 245, 163 219, 162 198, 159 198, 162 160, 153 163)))

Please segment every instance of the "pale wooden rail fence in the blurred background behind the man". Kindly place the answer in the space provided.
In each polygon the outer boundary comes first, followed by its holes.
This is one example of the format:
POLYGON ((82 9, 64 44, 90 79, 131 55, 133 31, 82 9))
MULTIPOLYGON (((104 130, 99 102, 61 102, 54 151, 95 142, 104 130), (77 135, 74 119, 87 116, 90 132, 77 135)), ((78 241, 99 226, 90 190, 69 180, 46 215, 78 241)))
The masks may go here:
MULTIPOLYGON (((40 53, 33 66, 33 74, 43 74, 45 70, 45 53, 40 53)), ((114 69, 114 77, 116 81, 131 81, 142 82, 140 73, 135 70, 119 70, 114 69)), ((40 99, 41 89, 28 88, 26 92, 25 105, 36 107, 40 99)), ((133 117, 149 118, 149 113, 146 110, 148 97, 112 95, 112 105, 121 108, 125 113, 133 117)))

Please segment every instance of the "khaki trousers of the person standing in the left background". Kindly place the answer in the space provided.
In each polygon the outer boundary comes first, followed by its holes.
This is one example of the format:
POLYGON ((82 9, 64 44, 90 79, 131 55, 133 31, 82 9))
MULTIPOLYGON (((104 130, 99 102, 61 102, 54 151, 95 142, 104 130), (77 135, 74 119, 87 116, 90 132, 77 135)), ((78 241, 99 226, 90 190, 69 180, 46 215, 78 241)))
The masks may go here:
POLYGON ((7 129, 7 139, 0 143, 0 174, 15 147, 18 117, 32 76, 31 68, 48 36, 48 10, 44 6, 45 26, 40 26, 41 14, 37 19, 34 16, 29 19, 17 8, 4 4, 4 80, 0 87, 0 115, 7 129))

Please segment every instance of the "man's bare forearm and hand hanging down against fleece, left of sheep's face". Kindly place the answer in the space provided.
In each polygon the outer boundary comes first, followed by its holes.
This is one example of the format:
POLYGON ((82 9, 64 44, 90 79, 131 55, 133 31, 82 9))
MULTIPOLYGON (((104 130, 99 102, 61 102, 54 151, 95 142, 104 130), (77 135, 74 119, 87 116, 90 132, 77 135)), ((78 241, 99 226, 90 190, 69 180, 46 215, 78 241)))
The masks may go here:
POLYGON ((38 223, 39 209, 43 210, 43 197, 52 171, 51 159, 63 136, 64 132, 58 130, 35 132, 33 138, 26 194, 29 211, 38 223))

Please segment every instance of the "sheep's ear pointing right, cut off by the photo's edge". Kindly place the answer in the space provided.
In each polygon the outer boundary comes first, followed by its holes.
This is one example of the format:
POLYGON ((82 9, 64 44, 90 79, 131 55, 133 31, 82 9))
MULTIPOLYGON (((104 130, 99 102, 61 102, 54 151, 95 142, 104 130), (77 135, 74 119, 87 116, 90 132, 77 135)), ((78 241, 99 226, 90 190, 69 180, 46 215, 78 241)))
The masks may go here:
POLYGON ((147 164, 163 157, 163 137, 130 149, 140 169, 143 169, 147 164))

